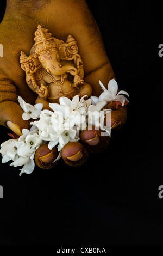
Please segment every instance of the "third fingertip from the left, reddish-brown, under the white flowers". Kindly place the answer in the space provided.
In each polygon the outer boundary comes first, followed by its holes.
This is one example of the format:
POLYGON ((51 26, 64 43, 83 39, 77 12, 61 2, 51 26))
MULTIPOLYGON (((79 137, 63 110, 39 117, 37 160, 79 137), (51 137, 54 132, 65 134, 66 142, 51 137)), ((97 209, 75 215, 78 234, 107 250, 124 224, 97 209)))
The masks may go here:
POLYGON ((91 153, 99 153, 108 147, 109 136, 103 136, 101 129, 95 126, 87 126, 83 130, 80 139, 84 147, 91 153))

